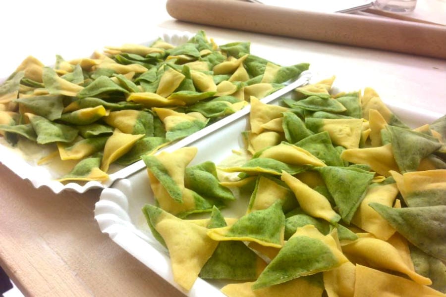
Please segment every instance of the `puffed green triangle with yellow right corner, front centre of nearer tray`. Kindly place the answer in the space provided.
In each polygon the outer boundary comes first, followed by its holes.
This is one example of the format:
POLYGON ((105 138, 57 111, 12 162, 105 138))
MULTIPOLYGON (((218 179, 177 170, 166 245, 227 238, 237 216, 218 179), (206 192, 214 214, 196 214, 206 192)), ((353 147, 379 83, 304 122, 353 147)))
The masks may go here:
POLYGON ((298 228, 268 264, 252 289, 281 284, 340 266, 347 258, 331 235, 324 236, 313 225, 298 228))

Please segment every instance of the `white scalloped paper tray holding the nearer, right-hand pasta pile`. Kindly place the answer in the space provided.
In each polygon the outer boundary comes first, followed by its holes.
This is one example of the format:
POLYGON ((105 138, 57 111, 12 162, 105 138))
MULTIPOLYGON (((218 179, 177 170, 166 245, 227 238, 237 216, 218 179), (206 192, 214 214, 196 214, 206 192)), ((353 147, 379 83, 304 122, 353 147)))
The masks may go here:
MULTIPOLYGON (((316 80, 315 82, 317 82, 316 80)), ((342 81, 341 81, 342 82, 342 81)), ((334 87, 334 89, 346 90, 334 87)), ((348 91, 348 89, 346 90, 348 91)), ((265 98, 268 101, 268 98, 265 98)), ((265 100, 263 100, 265 102, 265 100)), ((269 101, 271 104, 279 100, 269 101)), ((443 116, 443 114, 411 108, 404 105, 387 106, 407 125, 412 128, 443 116)), ((194 139, 184 146, 198 148, 198 153, 190 165, 204 161, 221 163, 232 154, 232 150, 243 148, 241 132, 247 130, 249 114, 245 113, 229 124, 219 127, 205 137, 194 139)), ((181 143, 167 148, 168 151, 183 147, 181 143)), ((240 200, 240 199, 239 199, 240 200)), ((235 201, 223 209, 225 216, 239 216, 246 210, 246 201, 235 201), (238 203, 238 204, 237 204, 238 203), (240 213, 237 213, 240 210, 240 213)), ((125 179, 118 180, 110 188, 104 189, 95 207, 95 219, 103 233, 127 252, 144 263, 148 268, 159 274, 172 286, 190 297, 224 296, 220 289, 225 283, 208 282, 198 278, 192 289, 187 292, 173 281, 170 260, 165 247, 152 236, 141 208, 154 203, 153 193, 145 166, 125 179)))

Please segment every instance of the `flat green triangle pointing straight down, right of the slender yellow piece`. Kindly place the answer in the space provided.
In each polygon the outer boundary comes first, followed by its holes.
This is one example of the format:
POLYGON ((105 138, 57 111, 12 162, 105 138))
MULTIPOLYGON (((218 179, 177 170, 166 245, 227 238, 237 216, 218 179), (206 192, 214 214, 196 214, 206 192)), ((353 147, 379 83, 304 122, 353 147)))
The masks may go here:
POLYGON ((315 167, 315 170, 321 173, 342 220, 350 224, 375 173, 360 168, 337 166, 315 167))

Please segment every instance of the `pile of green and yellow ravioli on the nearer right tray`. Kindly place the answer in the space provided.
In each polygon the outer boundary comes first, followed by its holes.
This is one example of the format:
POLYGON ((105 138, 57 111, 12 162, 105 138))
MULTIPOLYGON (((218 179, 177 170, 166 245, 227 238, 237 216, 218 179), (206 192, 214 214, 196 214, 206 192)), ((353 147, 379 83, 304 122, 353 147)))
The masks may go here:
POLYGON ((445 296, 446 117, 409 128, 371 88, 333 94, 334 79, 278 105, 251 97, 245 147, 218 165, 189 165, 194 147, 143 156, 156 203, 142 210, 182 288, 445 296))

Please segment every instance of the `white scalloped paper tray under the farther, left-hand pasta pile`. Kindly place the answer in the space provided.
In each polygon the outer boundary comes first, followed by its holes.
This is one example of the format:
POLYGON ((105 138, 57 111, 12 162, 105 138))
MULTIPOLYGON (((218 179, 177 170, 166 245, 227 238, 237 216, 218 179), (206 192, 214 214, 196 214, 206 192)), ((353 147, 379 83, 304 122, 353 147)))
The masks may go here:
MULTIPOLYGON (((147 41, 143 43, 143 45, 149 45, 157 38, 162 38, 164 41, 172 44, 172 45, 181 45, 187 42, 191 37, 195 36, 194 33, 187 31, 173 31, 167 30, 166 33, 160 34, 157 37, 154 37, 151 41, 147 41)), ((255 46, 253 54, 258 54, 255 52, 255 46)), ((299 61, 296 61, 296 63, 299 61)), ((286 86, 286 89, 279 90, 278 94, 283 94, 287 92, 287 90, 296 88, 308 83, 311 78, 310 71, 304 71, 299 76, 298 80, 286 86)), ((1 80, 0 80, 1 82, 1 80)), ((275 93, 275 94, 276 94, 275 93)), ((273 95, 272 95, 273 96, 273 95)), ((269 97, 272 98, 272 97, 269 97)), ((271 100, 265 98, 265 100, 271 100)), ((195 141, 198 138, 201 138, 209 133, 212 133, 216 129, 218 129, 221 125, 226 125, 230 121, 238 118, 239 116, 246 114, 249 112, 249 107, 244 108, 232 115, 229 115, 222 120, 205 127, 201 131, 190 135, 179 142, 175 142, 165 148, 161 148, 160 150, 167 149, 169 147, 183 147, 188 145, 189 143, 195 141)), ((55 148, 53 148, 55 149, 55 148)), ((78 193, 84 193, 90 189, 94 188, 107 188, 110 187, 116 180, 121 178, 125 178, 144 167, 144 162, 138 161, 129 166, 118 166, 115 164, 111 164, 109 170, 109 179, 104 182, 99 181, 89 181, 84 183, 61 183, 56 179, 61 175, 67 173, 69 171, 68 168, 71 168, 74 165, 74 162, 70 164, 69 162, 53 161, 48 164, 38 165, 37 161, 47 156, 52 152, 51 148, 42 149, 41 146, 33 144, 32 142, 28 142, 26 140, 20 141, 16 147, 12 147, 10 144, 6 142, 3 137, 0 137, 0 163, 3 163, 6 167, 8 167, 12 172, 18 175, 22 179, 29 180, 32 185, 36 188, 40 188, 42 186, 46 186, 50 188, 54 193, 58 194, 65 190, 75 191, 78 193)))

